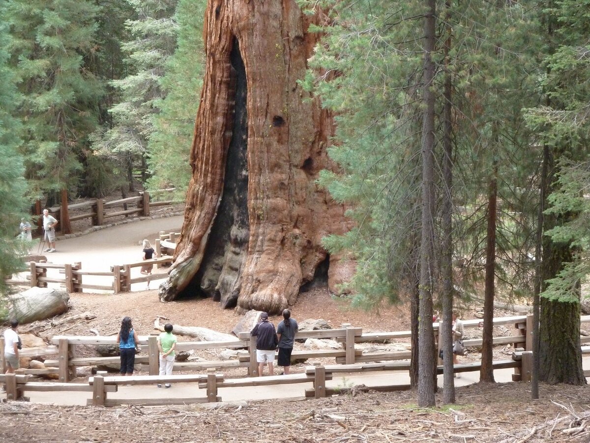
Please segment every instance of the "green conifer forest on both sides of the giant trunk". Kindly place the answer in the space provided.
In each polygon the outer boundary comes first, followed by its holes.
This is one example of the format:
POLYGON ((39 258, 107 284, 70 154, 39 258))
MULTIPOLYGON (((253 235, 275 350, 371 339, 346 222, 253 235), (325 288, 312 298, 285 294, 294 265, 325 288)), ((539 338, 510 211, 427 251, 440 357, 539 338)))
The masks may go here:
MULTIPOLYGON (((205 6, 2 2, 2 275, 21 266, 14 229, 34 199, 53 204, 63 189, 100 197, 132 189, 137 174, 150 193, 184 198, 205 6)), ((336 115, 329 155, 340 170, 319 185, 356 227, 324 243, 358 263, 355 302, 409 294, 416 318, 430 318, 434 301, 450 324, 455 294, 483 285, 490 325, 496 292, 533 300, 541 378, 584 383, 590 2, 299 6, 323 17, 309 30, 323 39, 300 84, 336 115)), ((432 346, 417 346, 422 366, 432 346)), ((485 332, 483 353, 491 361, 485 332)), ((433 371, 419 375, 422 405, 433 371)))

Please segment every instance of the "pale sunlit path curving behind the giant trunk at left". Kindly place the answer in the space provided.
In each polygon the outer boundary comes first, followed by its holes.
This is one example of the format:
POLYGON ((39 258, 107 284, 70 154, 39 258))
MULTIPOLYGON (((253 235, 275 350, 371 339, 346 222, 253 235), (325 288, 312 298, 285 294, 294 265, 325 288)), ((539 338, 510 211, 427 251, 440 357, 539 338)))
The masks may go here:
MULTIPOLYGON (((160 231, 180 232, 182 219, 183 216, 173 216, 139 220, 137 222, 107 227, 106 229, 97 230, 79 237, 57 240, 55 243, 56 251, 45 253, 45 256, 47 256, 48 262, 60 265, 81 262, 84 271, 109 271, 110 266, 113 265, 141 261, 143 256, 142 240, 148 239, 152 243, 152 246, 154 246, 155 239, 158 237, 160 231)), ((42 245, 41 247, 44 246, 42 245)), ((38 240, 35 240, 31 247, 31 252, 37 253, 40 249, 38 240)), ((139 271, 140 268, 133 268, 133 277, 139 276, 139 271)), ((154 268, 154 273, 166 275, 165 269, 154 268)), ((94 278, 91 276, 85 278, 87 278, 89 283, 94 283, 94 278)), ((97 284, 101 284, 98 279, 96 280, 97 284)), ((102 282, 102 284, 105 284, 105 282, 102 282)), ((50 286, 53 287, 52 284, 50 286)), ((132 290, 137 291, 144 288, 145 284, 137 284, 133 285, 132 290)))

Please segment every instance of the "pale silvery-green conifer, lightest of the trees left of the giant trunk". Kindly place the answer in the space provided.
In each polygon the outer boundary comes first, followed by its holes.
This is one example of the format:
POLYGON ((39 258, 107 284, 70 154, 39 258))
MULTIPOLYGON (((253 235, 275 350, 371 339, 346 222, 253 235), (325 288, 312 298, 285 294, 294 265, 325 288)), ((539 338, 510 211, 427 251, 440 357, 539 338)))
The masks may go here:
POLYGON ((148 141, 155 128, 156 102, 164 96, 160 87, 168 58, 176 48, 176 24, 172 17, 176 0, 127 0, 135 17, 126 21, 129 40, 121 44, 128 73, 110 82, 118 99, 109 109, 112 122, 93 135, 94 154, 119 165, 120 175, 132 185, 136 170, 146 172, 148 141))

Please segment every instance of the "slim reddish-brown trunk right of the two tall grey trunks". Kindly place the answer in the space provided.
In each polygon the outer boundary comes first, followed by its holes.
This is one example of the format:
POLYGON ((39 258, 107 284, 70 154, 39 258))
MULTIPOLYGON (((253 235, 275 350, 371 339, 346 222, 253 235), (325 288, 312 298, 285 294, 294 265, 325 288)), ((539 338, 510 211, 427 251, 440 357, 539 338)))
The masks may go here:
MULTIPOLYGON (((497 136, 494 150, 497 148, 497 136)), ((498 200, 498 161, 494 155, 487 198, 487 233, 486 233, 486 288, 483 302, 483 345, 481 347, 480 382, 494 382, 493 340, 494 340, 494 294, 496 292, 496 224, 498 200)))

